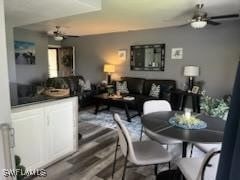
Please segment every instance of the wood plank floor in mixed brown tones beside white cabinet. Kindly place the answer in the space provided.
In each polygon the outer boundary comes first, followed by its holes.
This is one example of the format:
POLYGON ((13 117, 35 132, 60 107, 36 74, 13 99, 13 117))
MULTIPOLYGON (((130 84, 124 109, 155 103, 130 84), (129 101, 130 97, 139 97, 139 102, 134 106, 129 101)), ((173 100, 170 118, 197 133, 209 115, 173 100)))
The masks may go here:
MULTIPOLYGON (((79 123, 82 139, 76 153, 48 167, 44 180, 111 180, 116 131, 95 126, 86 122, 79 123)), ((121 179, 123 156, 118 151, 114 180, 121 179)), ((129 168, 127 180, 155 179, 152 166, 129 168)))

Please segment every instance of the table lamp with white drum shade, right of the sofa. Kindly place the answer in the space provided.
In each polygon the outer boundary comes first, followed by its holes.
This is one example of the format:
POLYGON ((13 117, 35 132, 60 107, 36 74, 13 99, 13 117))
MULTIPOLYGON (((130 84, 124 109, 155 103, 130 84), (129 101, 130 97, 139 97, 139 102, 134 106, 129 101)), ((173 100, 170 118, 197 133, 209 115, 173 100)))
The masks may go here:
POLYGON ((198 66, 185 66, 184 67, 184 76, 189 77, 188 90, 192 90, 194 85, 194 77, 199 76, 199 67, 198 66))

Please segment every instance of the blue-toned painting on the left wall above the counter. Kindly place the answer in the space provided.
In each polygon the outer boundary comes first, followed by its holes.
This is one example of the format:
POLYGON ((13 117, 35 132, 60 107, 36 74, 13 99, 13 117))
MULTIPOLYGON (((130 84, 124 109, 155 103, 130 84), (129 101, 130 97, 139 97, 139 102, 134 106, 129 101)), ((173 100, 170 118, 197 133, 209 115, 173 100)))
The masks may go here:
POLYGON ((35 43, 14 41, 16 64, 36 64, 35 43))

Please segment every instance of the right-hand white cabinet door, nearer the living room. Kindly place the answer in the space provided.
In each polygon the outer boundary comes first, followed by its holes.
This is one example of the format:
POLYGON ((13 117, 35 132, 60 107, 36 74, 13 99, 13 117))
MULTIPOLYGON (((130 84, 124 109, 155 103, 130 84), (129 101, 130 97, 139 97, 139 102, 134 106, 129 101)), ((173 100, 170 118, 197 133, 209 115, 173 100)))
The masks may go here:
POLYGON ((74 109, 72 102, 47 107, 48 160, 74 150, 74 109))

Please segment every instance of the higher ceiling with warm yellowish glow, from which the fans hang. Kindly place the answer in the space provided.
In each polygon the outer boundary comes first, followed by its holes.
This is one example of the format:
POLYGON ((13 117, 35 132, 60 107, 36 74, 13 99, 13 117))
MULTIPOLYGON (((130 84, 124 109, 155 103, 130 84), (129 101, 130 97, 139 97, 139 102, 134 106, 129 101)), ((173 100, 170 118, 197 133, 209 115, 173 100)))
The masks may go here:
MULTIPOLYGON (((64 6, 63 2, 64 0, 58 0, 55 6, 60 9, 64 6)), ((66 34, 90 35, 177 26, 188 22, 198 2, 205 4, 204 10, 209 16, 239 13, 240 10, 240 0, 102 0, 101 11, 31 24, 23 28, 49 32, 60 25, 66 34)), ((51 14, 54 13, 55 11, 51 14)))

